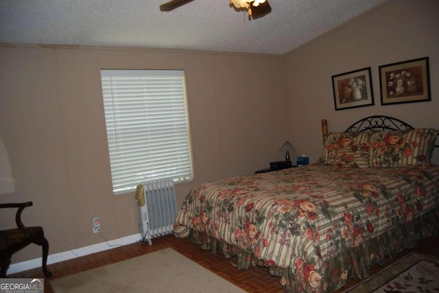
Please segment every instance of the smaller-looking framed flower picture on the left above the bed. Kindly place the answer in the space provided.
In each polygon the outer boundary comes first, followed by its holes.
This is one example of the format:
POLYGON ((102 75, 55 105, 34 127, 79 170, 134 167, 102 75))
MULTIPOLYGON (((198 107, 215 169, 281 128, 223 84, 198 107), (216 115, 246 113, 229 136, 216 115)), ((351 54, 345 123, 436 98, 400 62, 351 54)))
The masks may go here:
POLYGON ((333 75, 335 110, 374 105, 370 67, 333 75))

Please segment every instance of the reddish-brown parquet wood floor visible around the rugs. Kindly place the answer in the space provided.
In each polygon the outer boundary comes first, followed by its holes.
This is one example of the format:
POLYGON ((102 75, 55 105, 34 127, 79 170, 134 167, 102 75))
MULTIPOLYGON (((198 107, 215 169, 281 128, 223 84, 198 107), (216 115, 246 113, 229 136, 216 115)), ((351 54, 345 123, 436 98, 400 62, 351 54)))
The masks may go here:
MULTIPOLYGON (((84 257, 78 257, 64 262, 51 264, 48 266, 48 269, 53 273, 53 275, 50 278, 45 278, 45 293, 53 292, 49 283, 51 279, 72 275, 100 266, 106 266, 108 264, 120 262, 124 259, 137 257, 145 253, 152 253, 168 247, 171 247, 182 255, 192 259, 194 262, 197 262, 212 272, 215 272, 215 274, 223 277, 224 279, 235 283, 235 285, 238 285, 247 292, 284 292, 279 284, 281 278, 270 276, 266 268, 253 266, 248 270, 237 270, 237 268, 233 266, 235 259, 224 259, 223 255, 219 253, 213 254, 210 251, 203 251, 200 246, 191 244, 188 239, 178 239, 175 238, 174 235, 166 235, 161 238, 154 238, 151 246, 147 243, 134 243, 126 246, 118 246, 107 251, 93 253, 84 257)), ((372 274, 382 270, 386 266, 389 266, 392 264, 392 262, 395 262, 397 259, 400 259, 411 251, 439 255, 439 238, 422 240, 419 242, 416 249, 407 249, 399 253, 392 261, 388 260, 384 266, 372 266, 372 274)), ((35 268, 32 270, 27 270, 26 272, 18 272, 16 274, 9 275, 8 277, 43 278, 43 272, 40 268, 35 268)), ((349 280, 344 286, 343 290, 352 287, 359 281, 361 280, 349 280)), ((339 290, 335 293, 340 292, 342 292, 342 290, 339 290)))

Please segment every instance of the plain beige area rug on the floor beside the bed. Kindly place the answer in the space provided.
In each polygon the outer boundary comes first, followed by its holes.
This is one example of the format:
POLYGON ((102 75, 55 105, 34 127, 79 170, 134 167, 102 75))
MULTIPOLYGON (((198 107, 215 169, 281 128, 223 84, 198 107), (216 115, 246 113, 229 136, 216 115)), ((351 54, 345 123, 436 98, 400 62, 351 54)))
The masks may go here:
POLYGON ((49 282, 54 293, 245 292, 170 248, 49 282))

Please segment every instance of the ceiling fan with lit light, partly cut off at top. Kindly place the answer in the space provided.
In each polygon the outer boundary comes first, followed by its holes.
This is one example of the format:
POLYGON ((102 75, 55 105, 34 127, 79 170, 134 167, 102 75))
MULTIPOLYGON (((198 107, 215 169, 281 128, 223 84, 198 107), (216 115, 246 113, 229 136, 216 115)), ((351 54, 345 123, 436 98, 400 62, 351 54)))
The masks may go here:
MULTIPOLYGON (((171 0, 160 5, 161 11, 171 11, 193 0, 171 0)), ((268 0, 230 0, 230 6, 237 11, 248 11, 249 19, 256 19, 272 12, 268 0)))

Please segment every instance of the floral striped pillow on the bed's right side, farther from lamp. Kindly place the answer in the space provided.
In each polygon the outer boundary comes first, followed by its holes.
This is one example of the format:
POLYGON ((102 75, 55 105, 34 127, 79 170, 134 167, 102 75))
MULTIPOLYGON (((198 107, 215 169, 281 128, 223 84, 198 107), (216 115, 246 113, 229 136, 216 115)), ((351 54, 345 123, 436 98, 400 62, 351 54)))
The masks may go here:
POLYGON ((369 166, 429 166, 437 133, 435 129, 374 132, 369 166))

